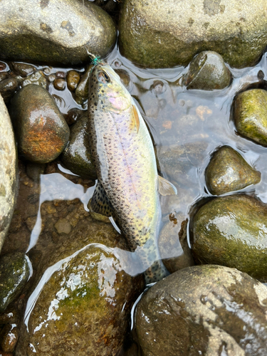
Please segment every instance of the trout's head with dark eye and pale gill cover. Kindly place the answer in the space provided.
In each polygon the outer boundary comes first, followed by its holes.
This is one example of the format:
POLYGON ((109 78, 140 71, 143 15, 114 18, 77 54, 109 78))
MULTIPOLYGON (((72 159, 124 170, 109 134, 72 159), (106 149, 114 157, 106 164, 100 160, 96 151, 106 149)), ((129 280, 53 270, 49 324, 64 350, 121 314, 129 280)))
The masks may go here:
POLYGON ((90 74, 89 101, 98 109, 120 114, 130 108, 132 97, 122 84, 119 75, 108 65, 99 63, 90 74))

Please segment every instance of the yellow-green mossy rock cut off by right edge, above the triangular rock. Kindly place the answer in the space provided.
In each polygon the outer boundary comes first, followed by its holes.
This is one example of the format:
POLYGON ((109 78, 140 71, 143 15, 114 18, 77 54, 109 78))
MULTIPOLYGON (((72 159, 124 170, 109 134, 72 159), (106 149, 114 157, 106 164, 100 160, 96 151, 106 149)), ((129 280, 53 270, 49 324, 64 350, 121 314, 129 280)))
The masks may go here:
POLYGON ((267 92, 246 90, 234 100, 234 122, 241 136, 267 146, 267 92))

